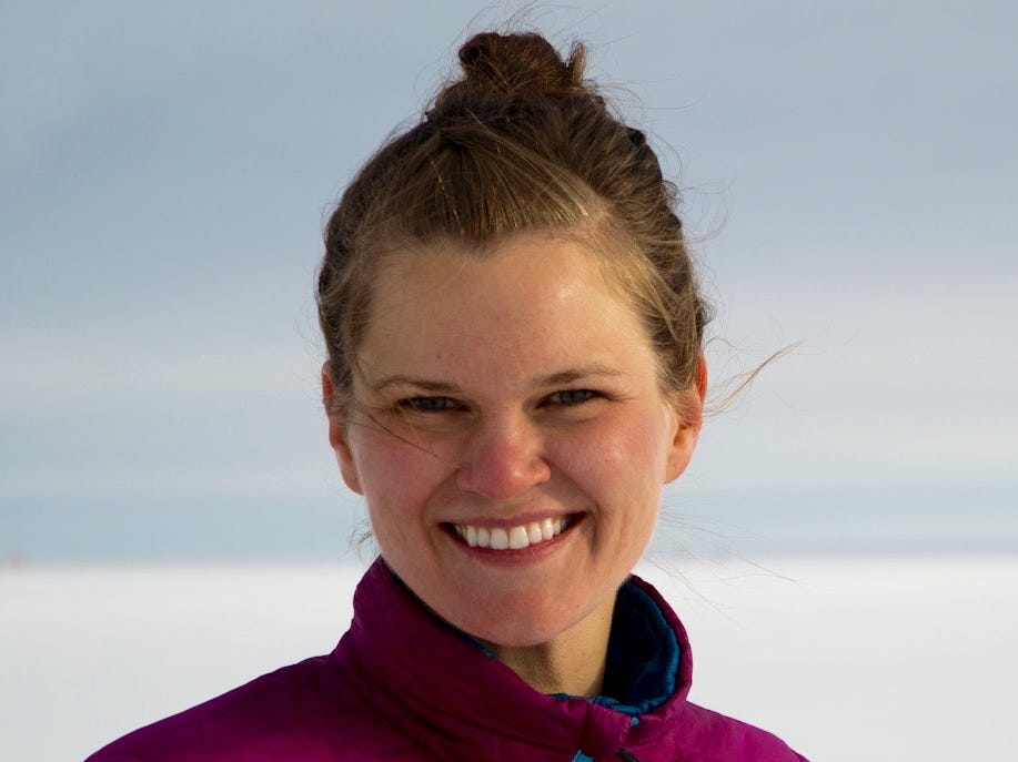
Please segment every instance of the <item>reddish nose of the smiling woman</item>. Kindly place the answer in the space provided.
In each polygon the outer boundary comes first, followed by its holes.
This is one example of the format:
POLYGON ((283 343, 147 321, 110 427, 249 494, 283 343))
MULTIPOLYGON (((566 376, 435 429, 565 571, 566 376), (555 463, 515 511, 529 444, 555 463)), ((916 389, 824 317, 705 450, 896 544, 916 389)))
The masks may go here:
POLYGON ((505 500, 547 481, 544 439, 524 416, 505 415, 477 421, 466 441, 456 486, 505 500))

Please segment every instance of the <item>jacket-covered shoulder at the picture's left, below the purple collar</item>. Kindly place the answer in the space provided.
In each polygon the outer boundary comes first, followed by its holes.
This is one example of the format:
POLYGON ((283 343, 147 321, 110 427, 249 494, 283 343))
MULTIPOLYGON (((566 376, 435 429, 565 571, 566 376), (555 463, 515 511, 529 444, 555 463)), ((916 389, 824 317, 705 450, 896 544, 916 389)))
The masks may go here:
POLYGON ((135 730, 85 762, 405 759, 399 734, 377 732, 384 718, 345 671, 332 656, 284 667, 135 730))

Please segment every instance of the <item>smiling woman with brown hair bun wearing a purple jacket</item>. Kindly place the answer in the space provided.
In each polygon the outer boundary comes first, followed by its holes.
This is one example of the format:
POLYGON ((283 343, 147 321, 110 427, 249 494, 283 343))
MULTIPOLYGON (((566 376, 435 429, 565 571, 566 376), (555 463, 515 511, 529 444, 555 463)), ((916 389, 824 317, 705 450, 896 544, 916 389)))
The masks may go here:
POLYGON ((686 701, 631 577, 707 383, 674 189, 582 48, 460 60, 326 230, 329 438, 381 549, 350 631, 92 762, 803 759, 686 701))

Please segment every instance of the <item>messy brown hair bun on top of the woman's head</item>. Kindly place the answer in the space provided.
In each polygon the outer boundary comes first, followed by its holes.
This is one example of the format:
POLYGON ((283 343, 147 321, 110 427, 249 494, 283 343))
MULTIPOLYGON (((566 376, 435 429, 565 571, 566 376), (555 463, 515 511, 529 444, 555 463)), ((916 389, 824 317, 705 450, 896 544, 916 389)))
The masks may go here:
POLYGON ((543 37, 532 32, 475 34, 460 48, 464 83, 471 88, 516 93, 536 90, 550 98, 584 91, 585 51, 575 44, 564 61, 543 37))

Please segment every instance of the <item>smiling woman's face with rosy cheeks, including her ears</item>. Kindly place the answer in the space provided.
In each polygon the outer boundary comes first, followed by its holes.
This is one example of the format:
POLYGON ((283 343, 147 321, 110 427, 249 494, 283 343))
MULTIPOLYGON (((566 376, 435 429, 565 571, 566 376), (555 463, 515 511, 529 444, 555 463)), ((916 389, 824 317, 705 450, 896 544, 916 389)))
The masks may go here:
POLYGON ((703 399, 665 399, 595 256, 543 236, 483 257, 396 255, 357 357, 330 438, 400 578, 502 646, 609 616, 662 485, 689 461, 703 399))

